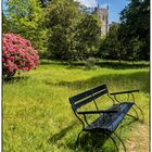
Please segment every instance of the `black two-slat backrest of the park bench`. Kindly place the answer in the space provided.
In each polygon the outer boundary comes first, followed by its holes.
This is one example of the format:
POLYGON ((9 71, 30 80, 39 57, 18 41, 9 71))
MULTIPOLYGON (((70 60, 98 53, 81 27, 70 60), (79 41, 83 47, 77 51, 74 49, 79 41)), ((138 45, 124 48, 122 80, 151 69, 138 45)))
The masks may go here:
POLYGON ((94 101, 97 98, 107 93, 106 85, 98 86, 93 89, 87 90, 83 93, 76 94, 69 98, 73 110, 76 112, 77 109, 86 105, 87 103, 94 101))

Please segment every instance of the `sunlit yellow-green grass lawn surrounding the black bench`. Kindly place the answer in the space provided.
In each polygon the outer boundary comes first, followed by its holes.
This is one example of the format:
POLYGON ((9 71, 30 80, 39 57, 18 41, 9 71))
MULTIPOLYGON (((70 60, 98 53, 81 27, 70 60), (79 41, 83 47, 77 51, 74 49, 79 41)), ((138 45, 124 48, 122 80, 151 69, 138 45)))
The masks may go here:
MULTIPOLYGON (((76 151, 74 144, 81 124, 71 109, 68 97, 106 84, 111 92, 140 89, 136 101, 143 110, 144 123, 138 121, 129 124, 130 119, 126 118, 121 137, 127 152, 148 152, 149 83, 148 66, 99 66, 88 71, 84 66, 68 67, 42 62, 36 71, 23 73, 3 84, 3 151, 76 151)), ((92 152, 92 149, 86 143, 78 151, 92 152)), ((114 152, 114 147, 107 140, 98 151, 114 152)))

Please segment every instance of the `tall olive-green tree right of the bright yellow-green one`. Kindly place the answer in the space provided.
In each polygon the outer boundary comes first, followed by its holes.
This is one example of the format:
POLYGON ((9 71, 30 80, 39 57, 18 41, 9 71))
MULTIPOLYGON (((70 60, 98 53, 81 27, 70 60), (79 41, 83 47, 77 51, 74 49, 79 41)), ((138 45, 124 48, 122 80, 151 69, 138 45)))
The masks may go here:
POLYGON ((75 27, 83 16, 79 4, 73 0, 52 0, 46 11, 48 51, 53 59, 69 60, 74 51, 75 27))

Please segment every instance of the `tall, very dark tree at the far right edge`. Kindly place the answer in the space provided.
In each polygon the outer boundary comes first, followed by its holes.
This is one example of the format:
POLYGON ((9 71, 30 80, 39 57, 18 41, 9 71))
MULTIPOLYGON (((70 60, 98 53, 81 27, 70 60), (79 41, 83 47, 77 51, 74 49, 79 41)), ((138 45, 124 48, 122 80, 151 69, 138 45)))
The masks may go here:
POLYGON ((149 60, 150 1, 130 0, 121 13, 119 40, 131 60, 149 60))

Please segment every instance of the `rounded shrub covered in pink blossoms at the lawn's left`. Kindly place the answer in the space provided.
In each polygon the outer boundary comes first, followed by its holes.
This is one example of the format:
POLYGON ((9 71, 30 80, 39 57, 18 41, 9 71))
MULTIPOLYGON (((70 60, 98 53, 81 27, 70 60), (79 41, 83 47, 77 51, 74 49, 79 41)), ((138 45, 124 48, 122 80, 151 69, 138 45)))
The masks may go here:
POLYGON ((30 71, 39 64, 38 52, 29 40, 20 35, 4 34, 2 37, 2 75, 12 77, 16 72, 30 71))

